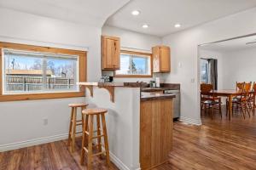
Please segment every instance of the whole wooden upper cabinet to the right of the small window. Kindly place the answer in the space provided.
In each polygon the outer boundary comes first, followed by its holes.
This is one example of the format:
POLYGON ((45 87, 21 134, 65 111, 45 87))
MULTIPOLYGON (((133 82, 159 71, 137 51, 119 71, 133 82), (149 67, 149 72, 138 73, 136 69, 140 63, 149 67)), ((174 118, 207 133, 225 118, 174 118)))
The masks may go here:
POLYGON ((166 46, 156 46, 152 48, 153 72, 171 71, 171 49, 166 46))

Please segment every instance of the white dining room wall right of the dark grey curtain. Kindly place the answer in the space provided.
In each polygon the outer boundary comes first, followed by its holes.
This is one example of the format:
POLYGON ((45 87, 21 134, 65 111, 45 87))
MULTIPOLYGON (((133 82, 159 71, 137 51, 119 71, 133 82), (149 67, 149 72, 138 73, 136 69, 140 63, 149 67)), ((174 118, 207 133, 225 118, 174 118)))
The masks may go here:
POLYGON ((235 89, 236 82, 256 82, 256 48, 224 52, 223 63, 224 89, 235 89))

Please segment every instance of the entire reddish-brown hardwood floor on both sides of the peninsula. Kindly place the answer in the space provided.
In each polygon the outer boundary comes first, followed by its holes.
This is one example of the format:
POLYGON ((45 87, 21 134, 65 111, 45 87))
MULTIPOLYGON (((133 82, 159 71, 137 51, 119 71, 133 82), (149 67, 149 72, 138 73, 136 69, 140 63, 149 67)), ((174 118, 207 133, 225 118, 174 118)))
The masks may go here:
MULTIPOLYGON (((202 117, 201 127, 174 123, 173 150, 168 163, 154 170, 256 170, 256 116, 243 120, 234 115, 229 122, 223 111, 223 119, 216 114, 211 120, 202 117)), ((0 153, 0 169, 86 169, 79 165, 79 148, 71 154, 67 141, 41 144, 20 150, 0 153)), ((94 169, 108 169, 106 161, 96 158, 94 169)), ((118 169, 114 165, 111 169, 118 169)))

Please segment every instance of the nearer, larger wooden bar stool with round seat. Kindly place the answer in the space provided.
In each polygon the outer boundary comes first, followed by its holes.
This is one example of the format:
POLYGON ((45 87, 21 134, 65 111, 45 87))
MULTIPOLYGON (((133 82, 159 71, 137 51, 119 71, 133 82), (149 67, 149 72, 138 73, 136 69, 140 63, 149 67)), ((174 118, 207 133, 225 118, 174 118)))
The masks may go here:
POLYGON ((108 150, 108 134, 105 121, 105 114, 108 112, 106 109, 93 108, 85 109, 82 111, 83 118, 85 117, 84 129, 83 129, 83 140, 82 140, 82 151, 81 151, 81 165, 84 165, 84 154, 87 152, 87 169, 91 168, 91 161, 93 156, 102 156, 106 154, 106 160, 108 167, 110 167, 109 161, 109 150, 108 150), (93 130, 93 119, 96 116, 96 131, 93 130), (102 129, 101 129, 101 117, 102 117, 102 129), (97 133, 96 136, 93 136, 93 133, 97 133), (102 144, 102 137, 104 139, 104 145, 102 144), (92 145, 92 140, 97 139, 97 144, 92 145), (87 145, 86 145, 87 144, 87 145), (87 146, 87 148, 86 148, 87 146), (92 147, 97 148, 97 153, 92 153, 92 147), (104 150, 102 150, 102 148, 104 150))

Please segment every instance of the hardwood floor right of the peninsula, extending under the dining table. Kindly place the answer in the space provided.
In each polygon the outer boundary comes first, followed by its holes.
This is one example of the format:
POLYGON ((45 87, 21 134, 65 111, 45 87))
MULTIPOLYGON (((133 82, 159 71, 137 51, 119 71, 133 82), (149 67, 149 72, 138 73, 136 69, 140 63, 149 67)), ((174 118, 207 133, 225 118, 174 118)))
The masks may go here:
POLYGON ((231 122, 218 114, 202 117, 201 127, 175 123, 169 163, 160 169, 256 169, 256 116, 231 122))

